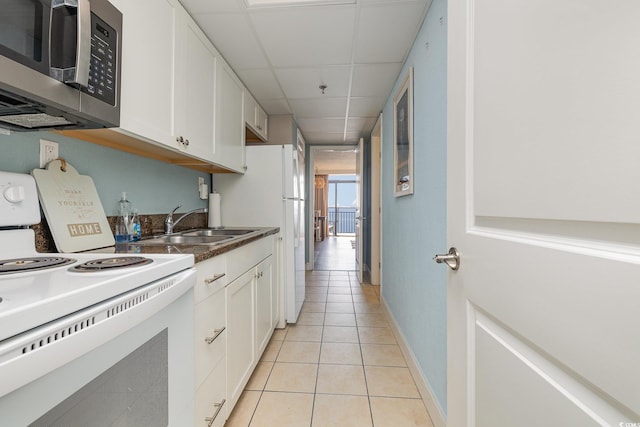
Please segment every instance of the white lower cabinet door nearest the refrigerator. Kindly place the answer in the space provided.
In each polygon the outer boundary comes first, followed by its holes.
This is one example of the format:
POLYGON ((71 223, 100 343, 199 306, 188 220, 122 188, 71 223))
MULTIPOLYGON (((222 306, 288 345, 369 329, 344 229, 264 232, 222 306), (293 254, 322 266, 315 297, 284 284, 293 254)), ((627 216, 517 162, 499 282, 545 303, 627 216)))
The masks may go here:
POLYGON ((273 332, 271 314, 273 292, 273 257, 256 267, 256 358, 262 355, 273 332))

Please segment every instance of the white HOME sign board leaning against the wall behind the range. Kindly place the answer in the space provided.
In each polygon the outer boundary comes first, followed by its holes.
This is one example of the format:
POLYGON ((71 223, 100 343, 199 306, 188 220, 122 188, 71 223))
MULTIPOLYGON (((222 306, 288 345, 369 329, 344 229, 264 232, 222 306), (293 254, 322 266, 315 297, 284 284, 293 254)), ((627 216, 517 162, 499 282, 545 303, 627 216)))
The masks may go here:
POLYGON ((115 244, 96 186, 62 159, 32 172, 53 240, 60 252, 115 244))

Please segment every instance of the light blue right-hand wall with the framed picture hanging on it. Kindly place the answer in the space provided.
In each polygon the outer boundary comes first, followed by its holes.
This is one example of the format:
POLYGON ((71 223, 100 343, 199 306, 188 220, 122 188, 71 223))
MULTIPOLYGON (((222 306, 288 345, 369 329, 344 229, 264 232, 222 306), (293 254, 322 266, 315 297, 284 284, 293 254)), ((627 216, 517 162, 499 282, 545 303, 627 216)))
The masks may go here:
POLYGON ((433 0, 383 111, 382 295, 446 414, 446 0, 433 0), (442 18, 442 22, 441 22, 442 18), (393 197, 393 94, 414 67, 414 194, 393 197))

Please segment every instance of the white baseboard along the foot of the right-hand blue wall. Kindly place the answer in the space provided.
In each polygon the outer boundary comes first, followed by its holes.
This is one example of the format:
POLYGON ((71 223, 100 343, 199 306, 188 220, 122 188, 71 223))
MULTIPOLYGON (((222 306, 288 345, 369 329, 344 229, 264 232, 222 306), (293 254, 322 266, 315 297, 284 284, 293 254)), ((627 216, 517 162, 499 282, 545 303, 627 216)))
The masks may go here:
POLYGON ((435 398, 435 394, 433 393, 433 390, 425 379, 424 374, 422 373, 422 369, 420 369, 420 365, 418 365, 418 361, 416 360, 413 351, 411 351, 411 348, 407 344, 407 340, 405 339, 404 334, 400 331, 398 323, 391 314, 391 311, 387 306, 387 302, 384 300, 384 298, 382 298, 382 295, 380 296, 380 302, 382 303, 384 314, 387 316, 389 324, 391 325, 393 335, 396 337, 398 345, 400 346, 400 350, 402 351, 402 354, 404 355, 404 358, 407 362, 409 372, 411 372, 411 375, 416 382, 416 386, 418 387, 418 391, 420 392, 420 396, 422 397, 424 406, 427 408, 427 411, 431 416, 431 422, 433 423, 433 426, 446 427, 446 417, 442 413, 442 409, 440 408, 440 405, 435 398))

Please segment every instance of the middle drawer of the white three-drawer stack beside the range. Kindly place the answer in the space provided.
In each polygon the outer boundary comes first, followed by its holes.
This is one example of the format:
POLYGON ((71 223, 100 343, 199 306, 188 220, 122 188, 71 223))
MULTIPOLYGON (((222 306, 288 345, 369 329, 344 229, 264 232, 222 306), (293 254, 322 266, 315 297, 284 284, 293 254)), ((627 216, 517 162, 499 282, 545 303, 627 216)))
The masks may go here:
POLYGON ((224 289, 195 308, 196 387, 226 355, 227 331, 224 289))

